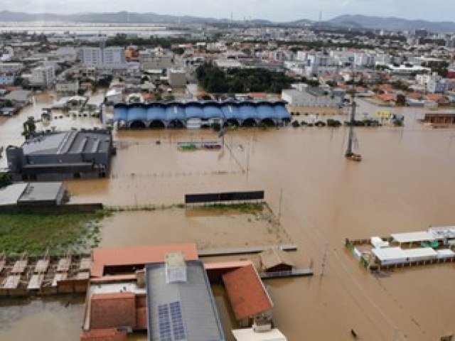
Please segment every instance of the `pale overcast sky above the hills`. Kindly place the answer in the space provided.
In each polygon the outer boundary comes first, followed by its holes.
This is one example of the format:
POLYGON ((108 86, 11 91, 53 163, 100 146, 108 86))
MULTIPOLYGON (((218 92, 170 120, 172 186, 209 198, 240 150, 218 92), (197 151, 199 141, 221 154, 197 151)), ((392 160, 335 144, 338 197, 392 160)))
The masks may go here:
POLYGON ((455 21, 454 0, 0 0, 0 10, 29 13, 135 11, 214 18, 291 21, 340 14, 455 21))

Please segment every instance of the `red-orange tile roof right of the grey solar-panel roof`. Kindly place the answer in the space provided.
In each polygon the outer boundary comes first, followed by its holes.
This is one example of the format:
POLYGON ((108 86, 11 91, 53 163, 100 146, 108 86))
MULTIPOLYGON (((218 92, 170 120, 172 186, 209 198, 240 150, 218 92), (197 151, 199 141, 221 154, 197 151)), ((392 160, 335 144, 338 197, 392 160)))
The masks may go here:
POLYGON ((224 274, 223 281, 237 320, 242 320, 273 308, 272 300, 254 266, 243 266, 240 269, 224 274))

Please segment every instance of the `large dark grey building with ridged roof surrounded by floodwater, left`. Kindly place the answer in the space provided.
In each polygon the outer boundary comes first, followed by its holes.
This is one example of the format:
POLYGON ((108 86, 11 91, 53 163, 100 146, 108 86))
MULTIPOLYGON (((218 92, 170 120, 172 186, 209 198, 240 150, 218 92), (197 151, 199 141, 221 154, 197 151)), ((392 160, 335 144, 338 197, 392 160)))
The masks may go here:
POLYGON ((67 131, 9 146, 6 158, 15 180, 100 178, 109 172, 113 152, 109 131, 67 131))

